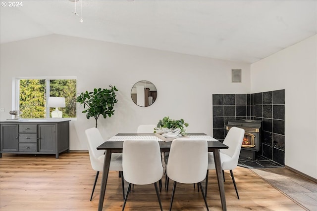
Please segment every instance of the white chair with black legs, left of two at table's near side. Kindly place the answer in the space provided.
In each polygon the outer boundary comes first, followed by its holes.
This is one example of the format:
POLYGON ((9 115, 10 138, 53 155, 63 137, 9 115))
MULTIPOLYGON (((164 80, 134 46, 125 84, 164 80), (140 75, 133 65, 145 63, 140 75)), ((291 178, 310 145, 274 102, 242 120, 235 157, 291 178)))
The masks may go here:
POLYGON ((159 207, 162 205, 157 182, 162 178, 163 167, 161 163, 159 142, 156 140, 125 140, 122 149, 122 167, 124 179, 129 183, 122 211, 127 202, 131 184, 154 184, 159 207))

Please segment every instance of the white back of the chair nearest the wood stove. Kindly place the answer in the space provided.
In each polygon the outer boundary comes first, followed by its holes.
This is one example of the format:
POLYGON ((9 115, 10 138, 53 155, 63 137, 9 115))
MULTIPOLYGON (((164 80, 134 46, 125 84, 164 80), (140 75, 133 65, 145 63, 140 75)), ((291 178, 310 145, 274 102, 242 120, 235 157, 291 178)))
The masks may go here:
POLYGON ((225 162, 222 165, 222 169, 234 169, 238 165, 239 155, 241 151, 241 145, 244 137, 244 129, 239 127, 231 127, 228 134, 223 140, 223 143, 227 145, 228 149, 221 149, 220 152, 231 157, 230 162, 225 162), (225 165, 230 165, 225 166, 225 165))

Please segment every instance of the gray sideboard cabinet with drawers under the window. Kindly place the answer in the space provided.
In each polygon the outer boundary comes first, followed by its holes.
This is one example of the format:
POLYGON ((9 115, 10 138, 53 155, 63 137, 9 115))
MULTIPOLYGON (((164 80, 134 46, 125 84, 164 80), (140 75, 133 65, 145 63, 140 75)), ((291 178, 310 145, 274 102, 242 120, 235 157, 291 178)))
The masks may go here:
POLYGON ((0 122, 0 158, 2 153, 69 153, 69 121, 61 119, 0 122))

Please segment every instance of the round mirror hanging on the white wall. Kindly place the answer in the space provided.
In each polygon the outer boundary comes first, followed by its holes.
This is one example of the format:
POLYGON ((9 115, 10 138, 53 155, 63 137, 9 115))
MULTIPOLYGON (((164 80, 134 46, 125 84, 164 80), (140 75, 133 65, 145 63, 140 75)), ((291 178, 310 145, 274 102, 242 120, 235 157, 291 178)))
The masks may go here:
POLYGON ((141 107, 152 105, 157 99, 157 88, 148 81, 139 81, 131 89, 131 98, 135 104, 141 107))

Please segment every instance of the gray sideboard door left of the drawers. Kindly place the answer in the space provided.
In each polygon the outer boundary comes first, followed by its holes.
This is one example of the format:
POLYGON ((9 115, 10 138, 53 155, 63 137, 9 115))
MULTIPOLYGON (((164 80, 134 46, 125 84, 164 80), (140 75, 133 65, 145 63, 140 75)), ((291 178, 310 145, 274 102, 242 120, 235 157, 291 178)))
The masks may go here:
POLYGON ((18 125, 1 125, 0 151, 19 151, 18 125))

